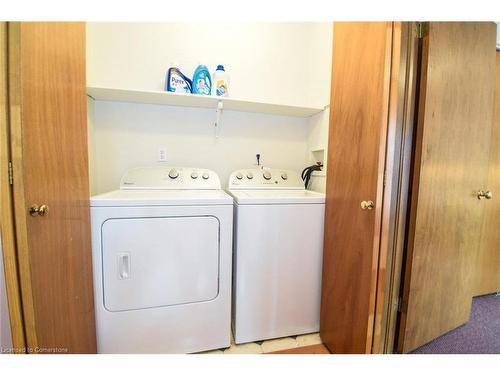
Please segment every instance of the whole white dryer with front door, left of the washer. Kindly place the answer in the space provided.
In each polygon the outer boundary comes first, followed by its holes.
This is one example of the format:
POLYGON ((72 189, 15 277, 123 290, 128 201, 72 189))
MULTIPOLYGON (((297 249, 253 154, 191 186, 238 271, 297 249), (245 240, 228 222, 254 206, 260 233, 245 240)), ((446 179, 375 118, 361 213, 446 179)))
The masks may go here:
POLYGON ((129 170, 91 219, 99 353, 230 346, 233 200, 214 172, 129 170))

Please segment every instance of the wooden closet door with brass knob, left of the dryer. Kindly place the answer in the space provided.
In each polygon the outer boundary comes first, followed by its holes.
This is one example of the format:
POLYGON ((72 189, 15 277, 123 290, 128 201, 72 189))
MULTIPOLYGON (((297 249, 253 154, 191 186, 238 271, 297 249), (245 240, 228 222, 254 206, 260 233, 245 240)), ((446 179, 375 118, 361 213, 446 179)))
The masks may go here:
POLYGON ((95 353, 85 24, 10 23, 9 88, 27 345, 95 353))

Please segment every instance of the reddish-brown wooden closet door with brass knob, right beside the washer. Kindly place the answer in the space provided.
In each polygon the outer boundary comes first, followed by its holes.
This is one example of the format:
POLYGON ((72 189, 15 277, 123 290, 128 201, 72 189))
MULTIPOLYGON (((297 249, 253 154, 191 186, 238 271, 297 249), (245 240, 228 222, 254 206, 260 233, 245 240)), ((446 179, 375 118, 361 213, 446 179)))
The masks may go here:
POLYGON ((390 22, 334 25, 320 323, 332 353, 371 351, 391 38, 390 22))

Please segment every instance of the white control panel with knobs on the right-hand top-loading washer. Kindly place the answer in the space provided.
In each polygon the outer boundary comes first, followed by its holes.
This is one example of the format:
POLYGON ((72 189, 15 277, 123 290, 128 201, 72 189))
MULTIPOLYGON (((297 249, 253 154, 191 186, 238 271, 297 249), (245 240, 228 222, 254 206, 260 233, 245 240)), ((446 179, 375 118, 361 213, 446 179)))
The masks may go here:
POLYGON ((273 168, 249 168, 229 176, 229 189, 304 189, 297 172, 273 168))

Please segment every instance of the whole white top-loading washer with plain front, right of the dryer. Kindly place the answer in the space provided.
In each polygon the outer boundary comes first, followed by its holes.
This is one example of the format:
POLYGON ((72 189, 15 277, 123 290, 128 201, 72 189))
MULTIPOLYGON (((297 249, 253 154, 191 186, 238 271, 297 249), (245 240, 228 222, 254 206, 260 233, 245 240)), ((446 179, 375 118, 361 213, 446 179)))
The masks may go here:
POLYGON ((236 343, 319 331, 325 196, 298 173, 231 174, 236 343))

